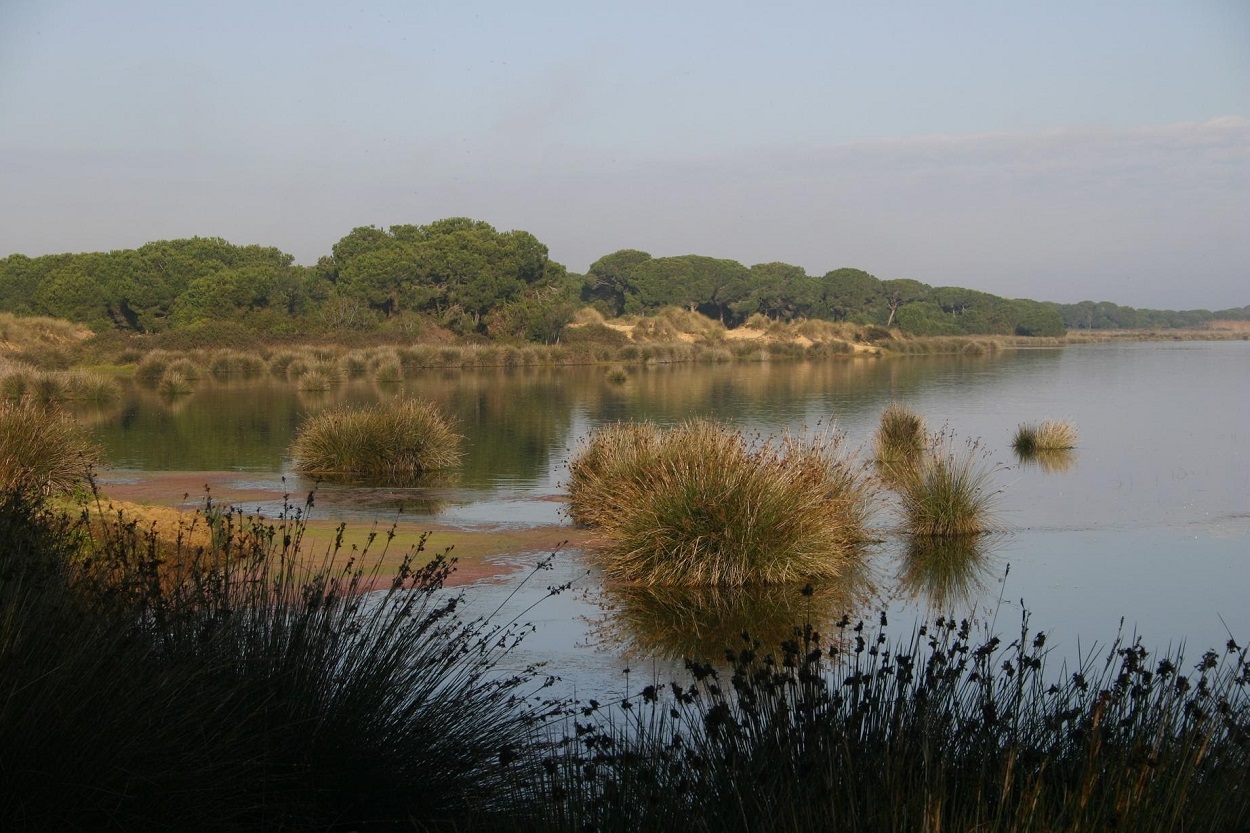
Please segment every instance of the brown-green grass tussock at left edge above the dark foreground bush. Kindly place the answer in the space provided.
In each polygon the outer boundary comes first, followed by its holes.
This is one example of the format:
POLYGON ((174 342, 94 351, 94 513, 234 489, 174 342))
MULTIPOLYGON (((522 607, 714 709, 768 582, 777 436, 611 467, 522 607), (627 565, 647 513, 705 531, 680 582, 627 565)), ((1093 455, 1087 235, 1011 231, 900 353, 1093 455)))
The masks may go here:
POLYGON ((0 401, 0 492, 71 492, 100 459, 99 447, 60 409, 0 401))

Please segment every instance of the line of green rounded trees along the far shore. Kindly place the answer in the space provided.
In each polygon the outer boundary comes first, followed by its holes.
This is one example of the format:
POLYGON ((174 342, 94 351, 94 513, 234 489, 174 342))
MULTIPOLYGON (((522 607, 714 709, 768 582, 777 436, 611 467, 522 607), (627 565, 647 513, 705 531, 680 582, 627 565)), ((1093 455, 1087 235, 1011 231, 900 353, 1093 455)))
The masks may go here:
POLYGON ((915 335, 1062 335, 1066 329, 1250 320, 1250 306, 1212 313, 1054 304, 882 280, 860 269, 815 276, 786 263, 745 266, 705 255, 652 258, 635 249, 605 255, 580 275, 551 260, 529 231, 499 231, 468 218, 356 228, 310 266, 272 246, 219 238, 0 259, 0 310, 95 330, 158 333, 234 321, 258 333, 315 335, 411 331, 432 320, 459 335, 551 343, 585 305, 608 316, 676 305, 728 326, 752 315, 818 318, 915 335))

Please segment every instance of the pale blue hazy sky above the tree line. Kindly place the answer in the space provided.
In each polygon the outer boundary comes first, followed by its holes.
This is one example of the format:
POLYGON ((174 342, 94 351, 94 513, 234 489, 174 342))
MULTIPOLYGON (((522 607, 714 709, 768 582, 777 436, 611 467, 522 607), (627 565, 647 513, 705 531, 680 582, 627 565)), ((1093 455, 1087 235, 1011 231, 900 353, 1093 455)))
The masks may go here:
POLYGON ((1250 304, 1250 0, 0 0, 0 256, 468 215, 1250 304))

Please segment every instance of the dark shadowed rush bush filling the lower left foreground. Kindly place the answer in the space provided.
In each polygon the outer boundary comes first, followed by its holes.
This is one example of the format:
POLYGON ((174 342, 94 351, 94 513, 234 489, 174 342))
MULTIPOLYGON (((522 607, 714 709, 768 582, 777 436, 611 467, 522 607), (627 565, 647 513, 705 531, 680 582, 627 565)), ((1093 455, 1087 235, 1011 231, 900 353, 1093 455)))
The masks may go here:
MULTIPOLYGON (((209 508, 161 565, 118 518, 0 503, 0 829, 422 827, 481 817, 530 737, 515 633, 449 563, 392 580, 300 557, 302 514, 209 508)), ((368 560, 368 553, 361 554, 368 560)), ((424 562, 421 562, 424 563, 424 562)))

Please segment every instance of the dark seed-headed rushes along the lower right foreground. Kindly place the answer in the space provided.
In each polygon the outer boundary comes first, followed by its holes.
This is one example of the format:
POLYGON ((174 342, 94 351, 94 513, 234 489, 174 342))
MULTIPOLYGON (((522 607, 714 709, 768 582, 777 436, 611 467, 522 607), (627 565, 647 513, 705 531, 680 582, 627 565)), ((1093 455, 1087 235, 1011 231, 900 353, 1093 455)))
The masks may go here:
POLYGON ((1250 668, 1115 640, 1048 668, 1046 634, 938 618, 891 642, 838 623, 728 668, 591 700, 555 739, 548 830, 1240 830, 1250 668))

